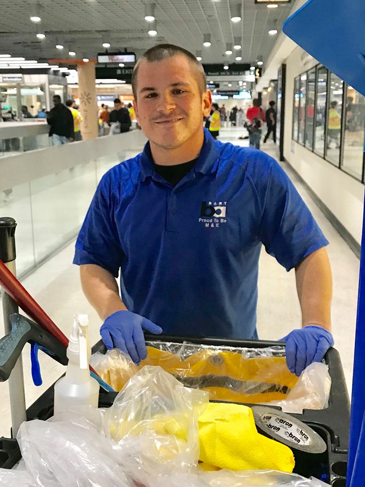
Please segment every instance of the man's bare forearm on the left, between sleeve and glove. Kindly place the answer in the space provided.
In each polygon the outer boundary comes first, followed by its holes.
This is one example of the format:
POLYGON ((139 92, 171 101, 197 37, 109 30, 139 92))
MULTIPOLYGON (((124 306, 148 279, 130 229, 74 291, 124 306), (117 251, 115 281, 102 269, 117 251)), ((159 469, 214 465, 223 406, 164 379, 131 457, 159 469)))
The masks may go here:
POLYGON ((115 277, 95 264, 80 265, 82 290, 89 303, 104 321, 115 311, 127 309, 119 296, 115 277))

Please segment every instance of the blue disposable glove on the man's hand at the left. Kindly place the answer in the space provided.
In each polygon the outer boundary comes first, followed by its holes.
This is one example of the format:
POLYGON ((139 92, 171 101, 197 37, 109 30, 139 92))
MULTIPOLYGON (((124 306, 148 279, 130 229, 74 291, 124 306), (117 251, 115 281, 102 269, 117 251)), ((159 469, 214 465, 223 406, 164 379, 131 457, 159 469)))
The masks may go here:
POLYGON ((100 334, 108 350, 114 347, 130 356, 136 365, 147 357, 143 330, 155 335, 162 333, 162 328, 127 310, 116 311, 103 323, 100 334))

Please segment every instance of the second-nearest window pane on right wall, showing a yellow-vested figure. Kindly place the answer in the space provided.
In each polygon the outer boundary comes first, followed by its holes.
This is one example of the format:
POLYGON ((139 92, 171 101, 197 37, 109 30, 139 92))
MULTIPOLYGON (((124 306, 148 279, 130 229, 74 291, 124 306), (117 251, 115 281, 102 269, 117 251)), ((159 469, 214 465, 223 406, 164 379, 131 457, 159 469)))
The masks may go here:
POLYGON ((338 166, 340 164, 343 81, 330 73, 329 83, 326 158, 338 166))

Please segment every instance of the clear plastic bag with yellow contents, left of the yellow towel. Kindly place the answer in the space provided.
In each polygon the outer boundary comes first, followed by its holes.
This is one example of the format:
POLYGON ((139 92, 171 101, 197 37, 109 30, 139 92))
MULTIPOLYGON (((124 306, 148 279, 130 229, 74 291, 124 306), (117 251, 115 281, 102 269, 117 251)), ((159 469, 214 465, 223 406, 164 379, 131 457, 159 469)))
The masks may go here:
POLYGON ((208 402, 206 392, 185 388, 161 367, 146 366, 107 411, 107 434, 120 446, 138 438, 141 458, 155 473, 183 472, 197 463, 197 419, 208 402))

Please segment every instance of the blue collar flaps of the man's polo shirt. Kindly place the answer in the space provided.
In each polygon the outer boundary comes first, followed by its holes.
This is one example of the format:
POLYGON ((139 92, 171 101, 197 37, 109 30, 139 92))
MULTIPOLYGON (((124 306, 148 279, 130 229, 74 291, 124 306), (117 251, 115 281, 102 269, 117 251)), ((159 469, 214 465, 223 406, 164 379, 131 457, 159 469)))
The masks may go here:
MULTIPOLYGON (((220 155, 219 150, 220 143, 215 141, 209 133, 209 130, 204 129, 204 142, 203 147, 194 165, 194 172, 201 172, 203 174, 209 174, 215 172, 218 166, 218 159, 220 155)), ((188 162, 188 161, 186 161, 188 162)), ((140 159, 140 174, 138 179, 145 181, 147 177, 154 177, 157 175, 153 167, 153 158, 149 141, 145 145, 140 159)))

